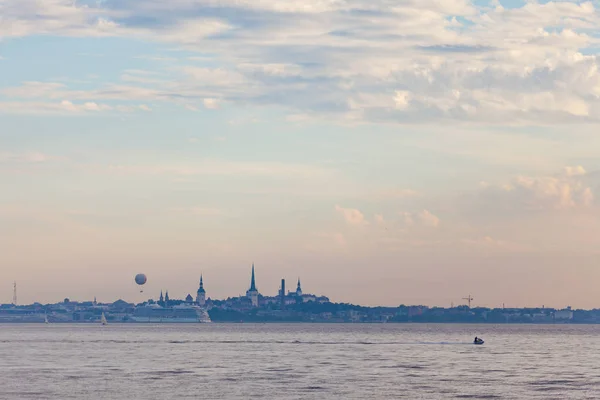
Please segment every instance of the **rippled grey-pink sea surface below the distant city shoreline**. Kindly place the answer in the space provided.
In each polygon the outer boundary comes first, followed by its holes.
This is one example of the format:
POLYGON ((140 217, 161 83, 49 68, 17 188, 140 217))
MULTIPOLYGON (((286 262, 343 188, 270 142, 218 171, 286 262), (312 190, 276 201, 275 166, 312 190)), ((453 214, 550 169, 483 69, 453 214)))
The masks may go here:
POLYGON ((600 326, 0 325, 0 399, 250 398, 600 398, 600 326))

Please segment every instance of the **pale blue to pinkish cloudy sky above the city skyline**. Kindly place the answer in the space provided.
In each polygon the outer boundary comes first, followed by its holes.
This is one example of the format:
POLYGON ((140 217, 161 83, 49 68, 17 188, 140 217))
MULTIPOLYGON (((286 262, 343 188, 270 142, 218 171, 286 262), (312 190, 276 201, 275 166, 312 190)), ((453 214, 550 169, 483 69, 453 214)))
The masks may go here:
POLYGON ((264 295, 600 307, 599 52, 598 1, 0 0, 0 303, 255 263, 264 295))

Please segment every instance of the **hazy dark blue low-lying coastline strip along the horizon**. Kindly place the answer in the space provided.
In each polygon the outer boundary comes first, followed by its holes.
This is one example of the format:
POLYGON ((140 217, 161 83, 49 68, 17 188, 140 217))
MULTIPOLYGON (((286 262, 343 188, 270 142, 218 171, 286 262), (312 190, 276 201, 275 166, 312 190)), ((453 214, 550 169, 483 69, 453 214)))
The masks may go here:
POLYGON ((57 304, 32 304, 0 306, 0 323, 99 323, 105 314, 109 323, 435 323, 435 324, 600 324, 600 310, 558 310, 554 308, 453 308, 405 306, 363 307, 345 303, 297 302, 282 309, 278 304, 261 304, 252 307, 243 301, 232 302, 208 300, 199 307, 184 300, 172 300, 172 304, 150 307, 147 303, 134 305, 122 300, 114 303, 63 302, 57 304), (235 303, 234 303, 235 304, 235 303), (159 317, 142 320, 152 308, 159 317), (187 313, 186 318, 180 318, 187 313), (198 319, 189 315, 199 315, 198 319), (203 317, 201 315, 204 315, 203 317))

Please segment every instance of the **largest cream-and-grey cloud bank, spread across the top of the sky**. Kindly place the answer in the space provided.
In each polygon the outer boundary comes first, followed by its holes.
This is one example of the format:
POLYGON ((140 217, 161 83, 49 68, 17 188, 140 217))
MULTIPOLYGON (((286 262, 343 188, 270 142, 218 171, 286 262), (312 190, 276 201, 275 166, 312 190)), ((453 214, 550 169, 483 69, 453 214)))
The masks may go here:
MULTIPOLYGON (((600 121, 593 2, 508 9, 466 0, 5 0, 0 14, 4 39, 127 37, 185 50, 169 55, 173 65, 155 66, 161 79, 124 84, 124 77, 86 91, 42 83, 35 95, 43 101, 116 109, 112 102, 152 100, 193 109, 219 99, 344 123, 600 121), (189 52, 202 54, 205 66, 189 52)), ((9 102, 23 91, 31 96, 26 86, 5 91, 9 102)))

